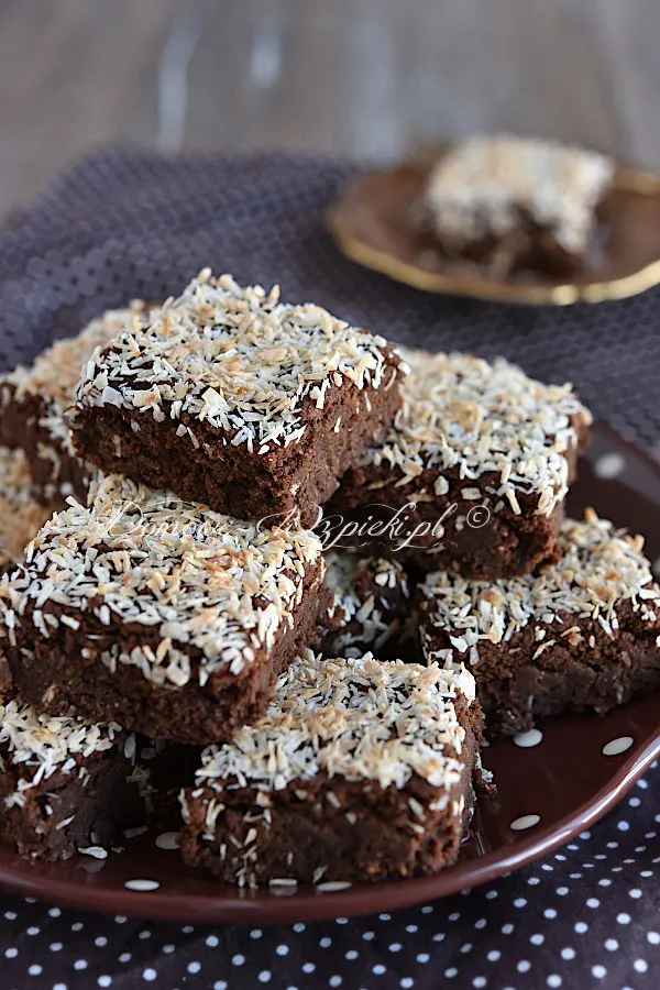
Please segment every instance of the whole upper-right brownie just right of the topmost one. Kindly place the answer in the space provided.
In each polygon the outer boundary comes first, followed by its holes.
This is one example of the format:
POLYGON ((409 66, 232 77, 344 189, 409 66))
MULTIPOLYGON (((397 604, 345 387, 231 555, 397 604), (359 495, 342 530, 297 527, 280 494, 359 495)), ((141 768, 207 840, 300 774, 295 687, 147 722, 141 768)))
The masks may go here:
POLYGON ((543 385, 503 359, 400 354, 410 367, 403 407, 329 512, 354 515, 374 552, 425 571, 496 579, 557 560, 591 422, 571 386, 543 385))

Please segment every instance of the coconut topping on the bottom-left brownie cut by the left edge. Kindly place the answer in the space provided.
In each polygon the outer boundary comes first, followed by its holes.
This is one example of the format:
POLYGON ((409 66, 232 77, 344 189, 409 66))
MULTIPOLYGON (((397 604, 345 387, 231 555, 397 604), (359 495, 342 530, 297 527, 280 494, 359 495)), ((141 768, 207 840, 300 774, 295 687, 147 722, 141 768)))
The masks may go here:
POLYGON ((22 806, 25 791, 55 772, 74 774, 85 785, 89 781, 85 761, 114 746, 121 732, 114 723, 53 718, 16 698, 0 697, 0 768, 4 771, 7 762, 23 773, 15 791, 6 798, 7 806, 22 806))

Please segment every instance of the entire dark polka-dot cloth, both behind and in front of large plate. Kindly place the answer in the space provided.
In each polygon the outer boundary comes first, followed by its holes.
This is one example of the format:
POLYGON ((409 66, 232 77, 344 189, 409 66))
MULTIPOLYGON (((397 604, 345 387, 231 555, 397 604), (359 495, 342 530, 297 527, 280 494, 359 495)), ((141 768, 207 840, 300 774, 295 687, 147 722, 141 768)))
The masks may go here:
MULTIPOLYGON (((571 380, 596 415, 660 438, 660 290, 515 308, 441 298, 344 260, 322 210, 351 165, 280 154, 84 160, 0 231, 0 367, 102 308, 177 292, 204 265, 277 280, 395 340, 504 354, 571 380)), ((607 469, 612 473, 612 465, 607 469)), ((559 853, 497 883, 393 914, 217 930, 145 924, 0 893, 2 990, 346 990, 439 986, 654 990, 660 971, 660 768, 559 853)), ((145 893, 148 897, 148 893, 145 893)))

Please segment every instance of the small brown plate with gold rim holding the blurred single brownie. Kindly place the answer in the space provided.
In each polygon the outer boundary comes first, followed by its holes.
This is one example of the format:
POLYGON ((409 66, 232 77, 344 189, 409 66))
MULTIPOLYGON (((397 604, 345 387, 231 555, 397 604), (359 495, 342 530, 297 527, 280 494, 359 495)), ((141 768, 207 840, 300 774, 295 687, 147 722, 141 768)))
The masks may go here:
POLYGON ((439 154, 365 173, 348 187, 328 212, 330 231, 348 257, 415 288, 508 302, 601 302, 660 283, 660 176, 616 169, 598 208, 606 246, 597 271, 571 283, 534 273, 497 279, 475 264, 443 258, 410 220, 439 154))

